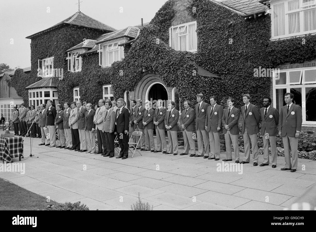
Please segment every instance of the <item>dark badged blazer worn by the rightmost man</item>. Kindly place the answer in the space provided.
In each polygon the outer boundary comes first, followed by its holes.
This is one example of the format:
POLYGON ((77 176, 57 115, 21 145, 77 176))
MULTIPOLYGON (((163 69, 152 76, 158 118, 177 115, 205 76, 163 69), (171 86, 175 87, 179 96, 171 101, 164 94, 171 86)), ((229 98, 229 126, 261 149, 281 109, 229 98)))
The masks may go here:
POLYGON ((281 107, 279 131, 281 131, 282 137, 285 135, 295 137, 296 131, 301 131, 302 127, 302 108, 301 106, 293 103, 289 109, 289 113, 287 114, 287 107, 287 105, 281 107))

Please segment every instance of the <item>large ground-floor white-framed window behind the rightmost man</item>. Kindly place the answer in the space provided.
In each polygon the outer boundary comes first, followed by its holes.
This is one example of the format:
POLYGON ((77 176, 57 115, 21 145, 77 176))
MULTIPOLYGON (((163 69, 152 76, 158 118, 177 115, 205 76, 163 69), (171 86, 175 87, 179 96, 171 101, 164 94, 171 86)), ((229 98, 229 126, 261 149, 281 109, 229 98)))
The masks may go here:
POLYGON ((285 105, 285 93, 293 93, 295 104, 302 107, 303 124, 316 124, 316 67, 274 72, 272 83, 273 105, 277 110, 285 105))

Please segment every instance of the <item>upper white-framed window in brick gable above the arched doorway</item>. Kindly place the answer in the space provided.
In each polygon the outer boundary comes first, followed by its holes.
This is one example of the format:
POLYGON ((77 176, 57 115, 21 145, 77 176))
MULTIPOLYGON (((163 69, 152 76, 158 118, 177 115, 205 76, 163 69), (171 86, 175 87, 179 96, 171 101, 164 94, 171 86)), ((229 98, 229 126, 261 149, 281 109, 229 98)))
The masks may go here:
POLYGON ((169 45, 177 51, 197 51, 197 22, 188 22, 169 28, 169 45))

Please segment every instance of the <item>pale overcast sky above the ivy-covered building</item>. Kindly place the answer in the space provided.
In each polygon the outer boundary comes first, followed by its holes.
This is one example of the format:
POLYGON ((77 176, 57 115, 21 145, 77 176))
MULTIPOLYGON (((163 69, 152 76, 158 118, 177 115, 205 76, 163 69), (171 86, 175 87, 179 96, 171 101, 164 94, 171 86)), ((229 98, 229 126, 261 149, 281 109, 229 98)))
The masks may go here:
MULTIPOLYGON (((149 22, 167 0, 81 0, 80 11, 116 29, 149 22), (121 11, 121 12, 120 12, 121 11)), ((78 0, 0 0, 0 63, 31 66, 31 39, 78 11, 78 0)))

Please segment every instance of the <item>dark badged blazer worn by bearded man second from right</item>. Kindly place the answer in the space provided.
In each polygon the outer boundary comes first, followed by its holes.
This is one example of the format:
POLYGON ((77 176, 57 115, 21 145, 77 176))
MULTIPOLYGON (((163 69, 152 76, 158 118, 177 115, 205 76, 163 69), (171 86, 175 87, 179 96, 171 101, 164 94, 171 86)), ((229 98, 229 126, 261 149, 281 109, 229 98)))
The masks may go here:
POLYGON ((273 108, 271 105, 267 111, 266 117, 264 117, 265 108, 260 109, 260 114, 262 118, 261 123, 261 135, 264 135, 264 130, 270 136, 276 136, 278 134, 277 125, 279 124, 279 111, 273 108))

